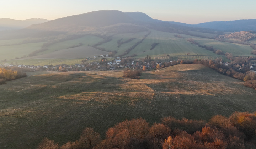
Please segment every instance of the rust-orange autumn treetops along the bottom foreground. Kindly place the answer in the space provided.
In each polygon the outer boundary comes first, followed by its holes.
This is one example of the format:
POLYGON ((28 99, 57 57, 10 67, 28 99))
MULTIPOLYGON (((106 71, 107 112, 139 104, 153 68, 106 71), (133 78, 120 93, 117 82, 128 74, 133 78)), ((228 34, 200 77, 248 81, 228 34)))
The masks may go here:
POLYGON ((203 120, 164 117, 149 125, 142 118, 108 128, 105 139, 85 128, 79 140, 62 146, 44 138, 38 149, 246 149, 256 148, 256 113, 234 112, 203 120))

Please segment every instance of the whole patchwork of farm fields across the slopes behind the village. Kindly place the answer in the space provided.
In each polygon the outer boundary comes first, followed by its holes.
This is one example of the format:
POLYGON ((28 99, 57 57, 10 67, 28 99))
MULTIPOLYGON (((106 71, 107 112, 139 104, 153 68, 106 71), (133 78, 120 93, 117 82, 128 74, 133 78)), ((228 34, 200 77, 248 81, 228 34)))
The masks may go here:
MULTIPOLYGON (((100 48, 105 48, 107 51, 117 51, 116 55, 121 55, 124 53, 125 50, 133 46, 139 40, 141 40, 148 32, 138 32, 138 33, 122 33, 122 34, 115 34, 111 38, 112 40, 107 43, 103 43, 99 45, 100 48), (122 39, 122 41, 128 40, 129 38, 136 38, 128 43, 122 44, 120 47, 117 47, 117 41, 122 39)), ((207 37, 213 37, 215 34, 208 34, 208 33, 198 33, 198 32, 191 32, 193 34, 204 35, 207 37)), ((145 38, 145 40, 136 46, 129 54, 125 55, 132 55, 137 54, 135 58, 145 57, 146 55, 150 55, 151 57, 161 57, 164 54, 170 54, 170 56, 178 56, 184 57, 187 53, 190 55, 202 55, 204 57, 210 56, 212 57, 219 57, 219 55, 213 53, 212 51, 205 50, 204 48, 198 47, 197 45, 191 44, 188 42, 188 38, 194 39, 201 45, 213 46, 214 48, 220 49, 225 52, 233 53, 233 56, 248 56, 251 55, 251 51, 253 50, 250 48, 249 45, 241 45, 241 44, 234 44, 234 43, 227 43, 227 42, 219 42, 215 39, 207 39, 207 38, 199 38, 193 37, 189 35, 181 35, 183 38, 174 37, 175 33, 167 33, 167 32, 160 32, 151 30, 151 34, 145 38), (150 50, 151 44, 159 43, 153 50, 150 50), (145 51, 145 52, 144 52, 145 51)), ((38 50, 41 48, 43 43, 30 43, 30 44, 21 44, 21 45, 10 45, 10 46, 1 46, 4 44, 15 44, 20 43, 24 39, 14 39, 14 40, 1 40, 0 41, 0 60, 10 60, 15 59, 16 57, 20 58, 24 55, 30 54, 31 52, 38 50)), ((27 57, 27 59, 32 58, 39 58, 39 59, 78 59, 84 57, 93 57, 94 55, 98 56, 100 54, 107 54, 105 51, 100 51, 96 49, 92 49, 92 47, 88 47, 87 45, 94 45, 103 39, 100 37, 86 35, 81 38, 68 40, 64 42, 55 43, 48 47, 48 50, 38 53, 37 56, 34 57, 27 57), (70 46, 79 45, 82 43, 83 46, 70 48, 70 46)), ((254 43, 256 41, 252 40, 251 42, 254 43)), ((198 56, 196 56, 198 57, 198 56)), ((50 61, 48 62, 50 63, 50 61)))

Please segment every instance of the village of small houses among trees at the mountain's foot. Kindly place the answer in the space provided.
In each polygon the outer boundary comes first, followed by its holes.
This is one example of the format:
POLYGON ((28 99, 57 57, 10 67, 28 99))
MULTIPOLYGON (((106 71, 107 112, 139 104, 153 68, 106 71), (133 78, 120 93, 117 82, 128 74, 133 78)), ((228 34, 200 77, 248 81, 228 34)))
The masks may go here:
MULTIPOLYGON (((168 61, 172 62, 172 61, 168 61)), ((159 67, 162 67, 163 62, 158 61, 155 62, 150 59, 128 59, 120 57, 108 57, 108 55, 99 55, 96 57, 96 55, 93 58, 86 57, 84 60, 81 61, 80 64, 75 65, 67 65, 67 64, 61 64, 61 65, 23 65, 23 64, 8 64, 5 63, 3 65, 0 64, 0 67, 18 67, 18 68, 26 68, 27 71, 96 71, 96 70, 116 70, 116 69, 122 69, 122 68, 131 68, 131 69, 142 69, 143 66, 146 66, 146 70, 154 70, 156 66, 159 65, 159 67), (112 60, 108 60, 108 58, 111 58, 112 60), (88 62, 90 61, 90 62, 88 62), (91 62, 93 61, 93 62, 91 62)))

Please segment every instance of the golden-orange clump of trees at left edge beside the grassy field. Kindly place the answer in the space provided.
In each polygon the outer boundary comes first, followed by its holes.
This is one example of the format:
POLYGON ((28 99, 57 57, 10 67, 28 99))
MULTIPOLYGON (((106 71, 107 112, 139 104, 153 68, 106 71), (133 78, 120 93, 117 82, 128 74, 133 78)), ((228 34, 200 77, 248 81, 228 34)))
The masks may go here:
POLYGON ((18 69, 18 67, 12 67, 11 69, 0 68, 0 84, 5 84, 5 81, 19 79, 26 76, 27 75, 24 70, 18 69))

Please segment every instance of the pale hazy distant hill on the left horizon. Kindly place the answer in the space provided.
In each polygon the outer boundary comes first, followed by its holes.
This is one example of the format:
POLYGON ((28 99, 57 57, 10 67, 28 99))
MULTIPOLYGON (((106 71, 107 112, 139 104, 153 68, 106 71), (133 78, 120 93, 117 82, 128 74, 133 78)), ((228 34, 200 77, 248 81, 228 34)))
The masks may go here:
POLYGON ((10 18, 1 18, 0 19, 0 31, 3 30, 12 30, 12 29, 22 29, 32 24, 40 24, 50 20, 47 19, 26 19, 26 20, 15 20, 10 18))

